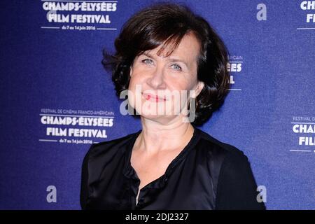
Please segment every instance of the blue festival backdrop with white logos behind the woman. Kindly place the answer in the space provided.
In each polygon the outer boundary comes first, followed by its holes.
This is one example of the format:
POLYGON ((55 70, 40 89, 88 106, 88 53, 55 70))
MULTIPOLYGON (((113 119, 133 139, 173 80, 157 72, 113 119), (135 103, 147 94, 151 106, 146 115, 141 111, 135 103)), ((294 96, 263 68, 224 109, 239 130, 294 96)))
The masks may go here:
MULTIPOLYGON (((1 1, 0 209, 80 209, 90 144, 141 129, 102 50, 155 2, 1 1)), ((200 128, 244 151, 267 209, 315 209, 315 1, 172 2, 230 52, 230 94, 200 128)))

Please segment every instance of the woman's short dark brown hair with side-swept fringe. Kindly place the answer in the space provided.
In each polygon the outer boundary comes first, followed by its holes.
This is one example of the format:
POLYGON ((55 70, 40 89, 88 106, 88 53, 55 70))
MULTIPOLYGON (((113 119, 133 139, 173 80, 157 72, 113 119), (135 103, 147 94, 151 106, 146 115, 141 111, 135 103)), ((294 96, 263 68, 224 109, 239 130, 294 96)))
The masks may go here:
POLYGON ((102 64, 112 72, 116 94, 127 90, 130 83, 130 66, 135 57, 161 44, 171 45, 170 55, 181 38, 192 32, 200 41, 197 79, 204 87, 197 96, 193 125, 202 125, 218 110, 229 92, 227 69, 228 50, 221 38, 200 15, 179 3, 155 3, 134 14, 115 40, 116 53, 103 50, 102 64))

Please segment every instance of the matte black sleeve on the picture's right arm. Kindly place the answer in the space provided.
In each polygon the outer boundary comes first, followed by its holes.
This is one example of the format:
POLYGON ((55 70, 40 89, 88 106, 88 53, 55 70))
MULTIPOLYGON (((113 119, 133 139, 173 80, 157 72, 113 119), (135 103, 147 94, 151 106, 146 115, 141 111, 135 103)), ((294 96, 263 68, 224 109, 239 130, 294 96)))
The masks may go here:
POLYGON ((218 178, 216 209, 265 210, 258 202, 257 184, 246 155, 231 153, 223 160, 218 178))

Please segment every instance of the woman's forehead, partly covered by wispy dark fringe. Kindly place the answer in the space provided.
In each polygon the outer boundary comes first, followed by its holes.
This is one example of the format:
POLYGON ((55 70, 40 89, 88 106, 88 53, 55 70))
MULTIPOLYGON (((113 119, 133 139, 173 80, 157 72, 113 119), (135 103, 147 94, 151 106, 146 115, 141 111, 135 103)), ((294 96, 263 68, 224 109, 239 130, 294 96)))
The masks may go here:
POLYGON ((195 62, 200 54, 200 42, 197 40, 194 34, 186 34, 183 36, 179 45, 173 50, 172 54, 169 52, 172 50, 172 45, 166 45, 165 49, 161 49, 163 46, 160 45, 158 48, 153 50, 147 50, 151 55, 158 55, 160 57, 176 57, 184 59, 186 62, 195 62))

